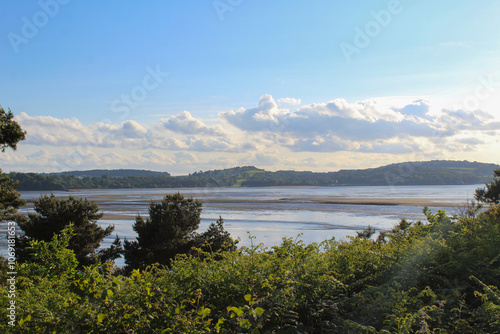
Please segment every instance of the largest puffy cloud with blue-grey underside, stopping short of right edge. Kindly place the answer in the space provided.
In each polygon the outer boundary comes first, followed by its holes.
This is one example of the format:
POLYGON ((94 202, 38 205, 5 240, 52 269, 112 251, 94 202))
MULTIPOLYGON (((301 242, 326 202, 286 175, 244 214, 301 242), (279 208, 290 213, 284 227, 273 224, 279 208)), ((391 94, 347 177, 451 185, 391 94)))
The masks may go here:
POLYGON ((397 136, 430 136, 436 130, 421 118, 379 107, 373 101, 329 103, 304 106, 295 112, 279 109, 269 95, 257 108, 221 113, 221 118, 243 131, 279 132, 301 139, 336 136, 342 140, 374 140, 397 136))

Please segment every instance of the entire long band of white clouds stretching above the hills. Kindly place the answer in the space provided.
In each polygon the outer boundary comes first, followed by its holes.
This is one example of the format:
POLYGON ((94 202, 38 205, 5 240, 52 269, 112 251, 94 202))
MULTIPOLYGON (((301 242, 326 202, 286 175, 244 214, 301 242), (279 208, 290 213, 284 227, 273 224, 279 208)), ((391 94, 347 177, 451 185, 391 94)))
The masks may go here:
MULTIPOLYGON (((430 103, 421 99, 389 107, 373 100, 345 99, 300 105, 300 99, 263 95, 255 107, 221 112, 210 125, 189 111, 153 124, 126 120, 87 125, 75 118, 20 113, 16 120, 28 132, 21 146, 31 150, 0 159, 7 166, 38 161, 40 166, 110 168, 141 164, 195 170, 237 164, 321 168, 317 154, 394 157, 474 152, 497 143, 500 130, 500 122, 484 111, 431 113, 430 103)), ((333 165, 338 164, 325 161, 323 169, 333 165)))

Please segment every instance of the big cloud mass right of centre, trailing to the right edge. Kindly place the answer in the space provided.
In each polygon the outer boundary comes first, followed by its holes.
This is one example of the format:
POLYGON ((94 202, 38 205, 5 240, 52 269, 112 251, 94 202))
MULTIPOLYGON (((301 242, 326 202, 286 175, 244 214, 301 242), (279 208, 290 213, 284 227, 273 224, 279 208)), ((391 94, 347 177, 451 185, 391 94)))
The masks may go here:
POLYGON ((249 135, 258 134, 294 152, 403 154, 422 149, 415 144, 418 138, 438 145, 464 130, 496 130, 500 125, 481 111, 443 110, 436 116, 430 109, 421 99, 397 107, 373 100, 349 103, 335 99, 290 111, 280 109, 272 96, 264 95, 256 108, 231 110, 220 117, 249 135))

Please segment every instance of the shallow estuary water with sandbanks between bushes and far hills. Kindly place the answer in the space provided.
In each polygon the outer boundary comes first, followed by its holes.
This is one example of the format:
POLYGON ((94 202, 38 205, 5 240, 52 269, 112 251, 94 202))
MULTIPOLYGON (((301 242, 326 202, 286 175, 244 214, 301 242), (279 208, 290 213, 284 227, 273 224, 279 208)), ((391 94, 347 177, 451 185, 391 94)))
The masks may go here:
MULTIPOLYGON (((104 240, 107 247, 116 234, 134 240, 132 225, 137 214, 146 217, 150 201, 166 194, 181 193, 203 202, 199 231, 205 231, 219 216, 239 246, 263 243, 279 245, 284 237, 305 243, 344 239, 367 226, 386 230, 401 218, 425 219, 423 207, 432 211, 458 213, 474 198, 482 185, 450 186, 370 186, 370 187, 265 187, 265 188, 182 188, 120 189, 53 192, 57 197, 86 197, 97 202, 104 213, 102 226, 115 225, 115 232, 104 240)), ((21 192, 28 200, 24 212, 33 211, 33 199, 47 192, 21 192)), ((49 192, 50 194, 50 192, 49 192)), ((2 226, 2 230, 6 227, 2 226)), ((3 232, 5 235, 6 233, 3 232)), ((2 253, 5 247, 2 246, 2 253)))

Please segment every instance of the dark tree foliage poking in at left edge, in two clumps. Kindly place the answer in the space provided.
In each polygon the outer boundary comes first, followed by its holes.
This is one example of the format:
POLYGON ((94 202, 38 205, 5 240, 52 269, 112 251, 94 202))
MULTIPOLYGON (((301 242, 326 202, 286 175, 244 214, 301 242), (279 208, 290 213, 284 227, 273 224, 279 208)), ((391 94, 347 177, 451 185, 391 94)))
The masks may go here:
MULTIPOLYGON (((14 115, 0 106, 0 148, 5 152, 7 147, 17 149, 17 143, 25 139, 26 132, 13 120, 14 115)), ((26 204, 17 192, 18 182, 10 179, 0 169, 0 221, 15 220, 17 209, 26 204)))

